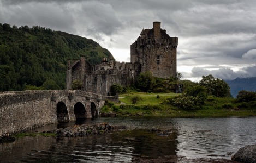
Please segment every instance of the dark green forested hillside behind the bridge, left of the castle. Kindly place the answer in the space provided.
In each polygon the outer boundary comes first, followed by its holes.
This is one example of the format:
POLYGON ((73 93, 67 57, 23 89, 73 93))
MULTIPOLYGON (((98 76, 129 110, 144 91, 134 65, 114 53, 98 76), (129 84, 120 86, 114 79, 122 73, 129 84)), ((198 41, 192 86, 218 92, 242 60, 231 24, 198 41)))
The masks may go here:
POLYGON ((64 89, 67 61, 80 56, 95 65, 112 55, 84 37, 0 23, 0 91, 64 89))

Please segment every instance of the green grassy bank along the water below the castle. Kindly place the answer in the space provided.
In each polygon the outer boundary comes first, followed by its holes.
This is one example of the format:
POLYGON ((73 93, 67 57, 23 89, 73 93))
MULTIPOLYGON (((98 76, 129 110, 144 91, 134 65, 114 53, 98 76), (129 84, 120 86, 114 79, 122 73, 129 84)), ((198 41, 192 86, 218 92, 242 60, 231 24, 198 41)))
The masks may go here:
POLYGON ((256 116, 256 108, 237 109, 237 104, 232 98, 214 98, 214 101, 206 101, 203 109, 184 111, 175 106, 161 104, 165 98, 175 97, 175 93, 129 93, 120 95, 120 101, 126 105, 115 104, 114 109, 102 110, 103 112, 115 111, 117 115, 156 115, 171 117, 229 117, 229 116, 256 116), (160 98, 157 98, 157 95, 160 98), (140 96, 142 100, 138 104, 132 104, 133 96, 140 96), (224 104, 230 104, 233 108, 226 109, 224 104), (146 107, 147 106, 147 107, 146 107))

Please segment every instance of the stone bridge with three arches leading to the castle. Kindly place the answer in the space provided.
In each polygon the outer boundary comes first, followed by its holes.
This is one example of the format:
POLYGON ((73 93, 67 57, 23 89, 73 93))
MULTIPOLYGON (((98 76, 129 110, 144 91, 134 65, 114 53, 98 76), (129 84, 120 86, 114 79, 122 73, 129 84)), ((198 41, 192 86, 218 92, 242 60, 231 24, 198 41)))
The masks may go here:
POLYGON ((50 123, 75 121, 100 115, 102 96, 79 90, 0 92, 0 137, 50 123))

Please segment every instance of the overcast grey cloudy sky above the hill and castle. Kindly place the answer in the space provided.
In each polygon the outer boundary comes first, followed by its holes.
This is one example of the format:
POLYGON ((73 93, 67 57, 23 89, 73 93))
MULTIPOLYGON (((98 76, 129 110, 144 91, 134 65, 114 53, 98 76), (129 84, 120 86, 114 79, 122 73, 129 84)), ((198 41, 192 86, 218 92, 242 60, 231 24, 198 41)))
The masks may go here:
POLYGON ((117 61, 130 62, 130 45, 154 21, 178 37, 182 79, 256 77, 255 0, 0 0, 2 24, 93 39, 117 61))

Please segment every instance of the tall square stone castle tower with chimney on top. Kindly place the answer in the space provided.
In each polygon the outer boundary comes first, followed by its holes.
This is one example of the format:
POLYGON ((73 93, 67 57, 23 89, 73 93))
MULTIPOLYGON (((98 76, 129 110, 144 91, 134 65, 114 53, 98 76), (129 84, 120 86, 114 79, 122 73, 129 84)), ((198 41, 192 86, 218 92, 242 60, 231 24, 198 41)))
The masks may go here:
POLYGON ((155 77, 175 77, 177 45, 177 37, 166 34, 161 22, 153 22, 153 28, 142 29, 140 37, 130 46, 131 62, 139 62, 142 72, 150 71, 155 77))

